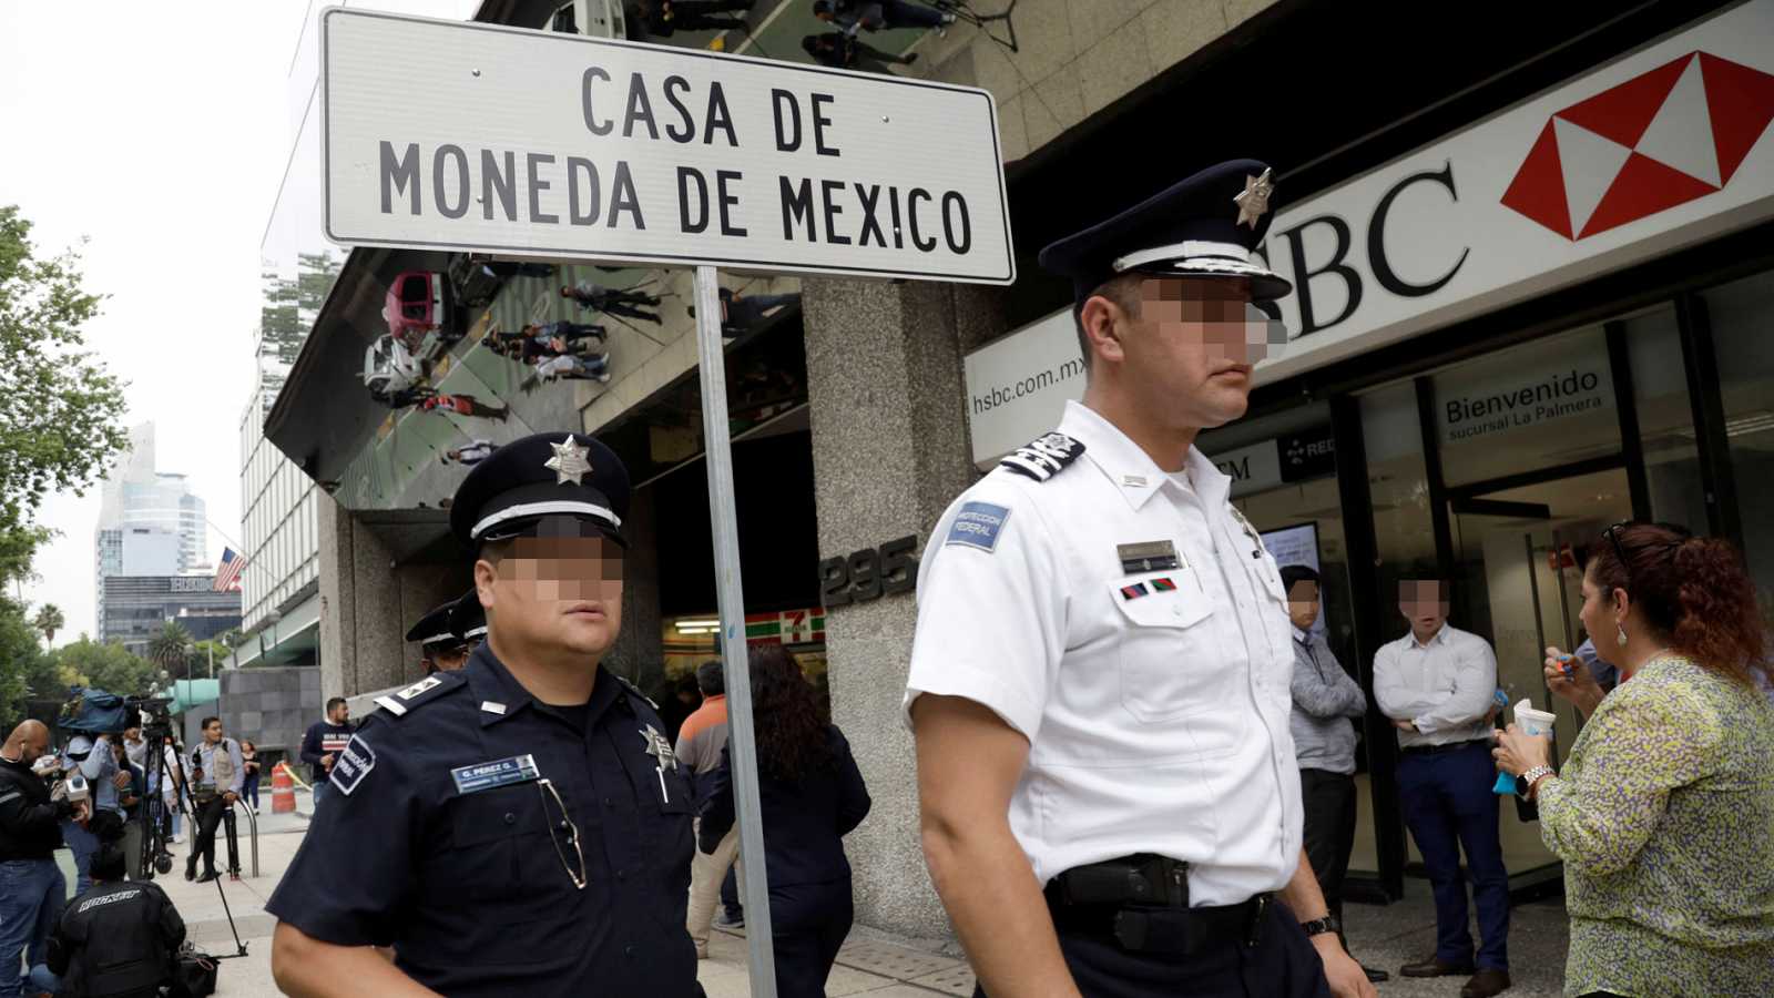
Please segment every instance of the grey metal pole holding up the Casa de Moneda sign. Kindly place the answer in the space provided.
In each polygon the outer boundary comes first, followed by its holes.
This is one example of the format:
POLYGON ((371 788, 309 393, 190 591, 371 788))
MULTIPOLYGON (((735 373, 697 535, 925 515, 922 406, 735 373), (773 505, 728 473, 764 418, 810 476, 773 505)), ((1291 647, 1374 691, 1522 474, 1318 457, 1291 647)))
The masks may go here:
POLYGON ((715 529, 715 595, 720 607, 720 657, 727 664, 727 744, 738 799, 740 854, 745 858, 745 939, 752 998, 775 998, 770 950, 770 874, 757 801, 757 741, 752 735, 752 682, 745 657, 745 591, 740 586, 740 529, 733 508, 733 440, 727 432, 727 355, 720 343, 720 293, 713 266, 695 268, 697 366, 703 375, 703 453, 708 460, 708 511, 715 529))

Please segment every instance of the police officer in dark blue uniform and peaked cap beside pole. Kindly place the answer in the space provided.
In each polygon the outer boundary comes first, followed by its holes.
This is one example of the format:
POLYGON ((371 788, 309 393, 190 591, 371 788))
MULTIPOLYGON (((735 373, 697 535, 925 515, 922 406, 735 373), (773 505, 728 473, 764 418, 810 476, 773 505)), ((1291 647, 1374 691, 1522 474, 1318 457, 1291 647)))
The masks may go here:
POLYGON ((628 472, 527 437, 475 465, 488 641, 378 698, 266 909, 287 994, 692 998, 690 787, 653 705, 598 661, 621 625, 628 472), (373 947, 392 947, 394 962, 373 947))

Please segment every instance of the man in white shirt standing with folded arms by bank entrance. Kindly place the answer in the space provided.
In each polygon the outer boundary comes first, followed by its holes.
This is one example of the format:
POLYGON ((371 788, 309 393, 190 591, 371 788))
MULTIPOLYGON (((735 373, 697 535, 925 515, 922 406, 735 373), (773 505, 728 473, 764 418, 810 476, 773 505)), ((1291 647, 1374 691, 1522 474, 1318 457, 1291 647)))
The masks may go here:
POLYGON ((1497 778, 1490 756, 1497 653, 1448 623, 1448 584, 1405 579, 1398 609, 1410 634, 1373 655, 1373 700, 1398 728, 1398 801, 1435 895, 1435 954, 1403 977, 1472 975, 1460 998, 1510 987, 1510 872, 1497 836, 1497 778), (1472 877, 1480 947, 1472 959, 1465 874, 1472 877))

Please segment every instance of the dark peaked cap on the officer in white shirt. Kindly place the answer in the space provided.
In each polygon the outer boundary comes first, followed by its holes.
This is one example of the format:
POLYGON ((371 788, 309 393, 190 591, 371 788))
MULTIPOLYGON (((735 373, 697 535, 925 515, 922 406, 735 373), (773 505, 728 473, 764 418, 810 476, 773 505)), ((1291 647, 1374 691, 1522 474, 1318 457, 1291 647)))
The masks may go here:
POLYGON ((1071 279, 1079 302, 1121 273, 1249 277, 1251 298, 1293 291, 1252 250, 1268 234, 1274 183, 1256 160, 1231 160, 1041 250, 1041 266, 1071 279))

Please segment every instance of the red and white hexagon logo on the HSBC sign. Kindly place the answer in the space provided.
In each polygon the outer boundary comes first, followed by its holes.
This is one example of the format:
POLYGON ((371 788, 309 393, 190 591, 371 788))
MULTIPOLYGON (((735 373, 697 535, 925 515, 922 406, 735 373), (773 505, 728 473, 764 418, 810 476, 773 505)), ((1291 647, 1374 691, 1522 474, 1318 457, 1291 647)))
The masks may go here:
POLYGON ((1556 112, 1503 204, 1566 240, 1731 183, 1774 121, 1774 76, 1691 51, 1556 112))

